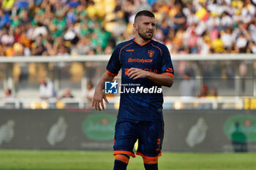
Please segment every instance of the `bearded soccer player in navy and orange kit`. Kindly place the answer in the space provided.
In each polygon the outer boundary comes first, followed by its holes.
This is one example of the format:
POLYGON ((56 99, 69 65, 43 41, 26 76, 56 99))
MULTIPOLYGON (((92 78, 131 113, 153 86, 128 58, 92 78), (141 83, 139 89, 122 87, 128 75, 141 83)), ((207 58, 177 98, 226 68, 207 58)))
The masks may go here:
POLYGON ((121 69, 121 84, 125 85, 121 89, 135 90, 121 93, 113 146, 113 169, 127 169, 129 156, 135 157, 132 150, 138 139, 136 154, 143 157, 145 169, 157 170, 164 134, 161 86, 173 85, 173 64, 167 47, 152 39, 156 29, 152 12, 138 12, 133 26, 135 38, 115 48, 107 72, 95 89, 93 106, 95 109, 105 109, 103 99, 108 103, 103 92, 105 81, 112 81, 121 69))

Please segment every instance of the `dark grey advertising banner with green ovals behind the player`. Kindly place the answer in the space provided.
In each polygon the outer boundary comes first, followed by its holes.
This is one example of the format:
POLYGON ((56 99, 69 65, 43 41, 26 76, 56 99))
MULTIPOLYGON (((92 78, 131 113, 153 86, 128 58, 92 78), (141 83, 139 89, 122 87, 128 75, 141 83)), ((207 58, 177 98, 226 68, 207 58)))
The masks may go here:
MULTIPOLYGON (((112 150, 117 112, 1 109, 0 149, 112 150)), ((256 151, 256 111, 164 110, 164 119, 164 151, 256 151)))

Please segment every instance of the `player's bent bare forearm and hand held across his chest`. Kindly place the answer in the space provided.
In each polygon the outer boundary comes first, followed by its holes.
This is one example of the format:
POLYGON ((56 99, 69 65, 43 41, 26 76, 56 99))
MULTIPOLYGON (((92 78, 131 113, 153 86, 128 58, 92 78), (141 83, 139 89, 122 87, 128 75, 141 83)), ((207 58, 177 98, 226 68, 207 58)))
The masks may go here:
POLYGON ((128 72, 129 78, 133 80, 136 80, 138 78, 148 78, 157 85, 165 85, 168 88, 173 85, 173 77, 170 77, 170 75, 168 74, 156 74, 137 68, 131 68, 128 70, 128 72))

